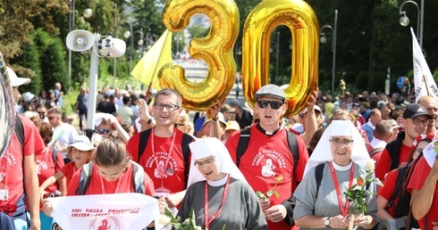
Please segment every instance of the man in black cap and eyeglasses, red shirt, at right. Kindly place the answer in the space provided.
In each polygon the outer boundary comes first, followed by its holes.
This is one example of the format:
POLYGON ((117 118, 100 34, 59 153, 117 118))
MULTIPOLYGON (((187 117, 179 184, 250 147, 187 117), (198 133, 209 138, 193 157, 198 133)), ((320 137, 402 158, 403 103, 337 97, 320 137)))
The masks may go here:
POLYGON ((386 144, 380 159, 376 162, 375 177, 381 181, 384 181, 384 177, 392 169, 405 166, 408 163, 415 139, 417 136, 425 134, 432 116, 422 105, 411 103, 403 112, 403 119, 404 131, 400 131, 397 139, 386 144))

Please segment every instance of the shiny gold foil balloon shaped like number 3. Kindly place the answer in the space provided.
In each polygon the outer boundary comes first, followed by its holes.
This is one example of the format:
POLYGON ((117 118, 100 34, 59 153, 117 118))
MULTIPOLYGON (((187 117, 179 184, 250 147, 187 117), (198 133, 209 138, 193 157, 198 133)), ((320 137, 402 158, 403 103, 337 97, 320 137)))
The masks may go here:
POLYGON ((233 0, 169 0, 163 10, 164 25, 173 32, 180 31, 189 25, 195 13, 206 14, 211 29, 206 37, 190 41, 189 53, 206 62, 208 75, 194 83, 185 77, 180 65, 167 63, 159 71, 158 79, 162 88, 172 87, 181 94, 185 110, 206 111, 232 91, 236 78, 232 47, 238 37, 240 16, 233 0))

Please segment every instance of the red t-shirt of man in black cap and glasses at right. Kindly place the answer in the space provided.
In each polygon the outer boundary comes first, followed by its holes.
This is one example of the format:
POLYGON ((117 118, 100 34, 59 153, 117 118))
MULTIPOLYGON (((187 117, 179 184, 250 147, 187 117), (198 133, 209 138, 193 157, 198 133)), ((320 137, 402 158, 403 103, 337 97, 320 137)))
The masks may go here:
MULTIPOLYGON (((408 164, 410 152, 412 151, 411 146, 401 144, 400 147, 400 160, 399 167, 408 164)), ((382 182, 384 181, 385 175, 390 171, 391 168, 391 156, 388 150, 385 148, 380 155, 379 161, 375 164, 375 177, 378 177, 382 182)))

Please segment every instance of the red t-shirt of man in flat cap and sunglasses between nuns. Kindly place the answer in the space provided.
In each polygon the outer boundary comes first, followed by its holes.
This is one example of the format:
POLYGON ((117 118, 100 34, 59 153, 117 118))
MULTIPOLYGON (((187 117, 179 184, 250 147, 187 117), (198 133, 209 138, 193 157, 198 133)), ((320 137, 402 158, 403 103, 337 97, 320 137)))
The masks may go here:
MULTIPOLYGON (((257 126, 252 126, 250 135, 247 151, 240 158, 240 171, 254 191, 265 193, 274 189, 280 193, 279 198, 273 195, 270 201, 273 206, 281 204, 291 197, 297 186, 295 182, 300 182, 303 177, 308 160, 306 144, 297 136, 299 164, 295 169, 285 129, 282 128, 274 136, 266 136, 257 129, 257 126), (293 174, 294 171, 296 175, 293 174), (279 175, 282 175, 283 180, 274 188, 279 175)), ((225 144, 234 162, 236 162, 239 139, 240 132, 234 132, 225 144)), ((269 229, 292 228, 284 221, 279 223, 268 221, 268 226, 269 229)))

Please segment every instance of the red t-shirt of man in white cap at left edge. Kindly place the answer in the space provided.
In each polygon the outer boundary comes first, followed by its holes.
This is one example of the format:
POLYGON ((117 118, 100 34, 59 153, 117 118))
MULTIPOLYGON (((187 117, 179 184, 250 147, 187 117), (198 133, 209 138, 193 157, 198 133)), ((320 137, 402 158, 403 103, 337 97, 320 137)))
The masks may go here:
POLYGON ((0 201, 0 207, 15 204, 23 193, 23 155, 30 156, 44 149, 37 127, 30 119, 18 116, 24 129, 23 146, 13 133, 8 149, 0 158, 0 189, 9 191, 9 199, 0 201))

